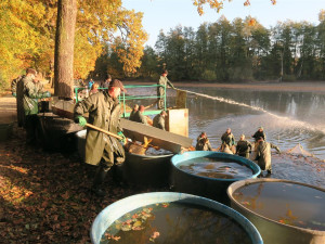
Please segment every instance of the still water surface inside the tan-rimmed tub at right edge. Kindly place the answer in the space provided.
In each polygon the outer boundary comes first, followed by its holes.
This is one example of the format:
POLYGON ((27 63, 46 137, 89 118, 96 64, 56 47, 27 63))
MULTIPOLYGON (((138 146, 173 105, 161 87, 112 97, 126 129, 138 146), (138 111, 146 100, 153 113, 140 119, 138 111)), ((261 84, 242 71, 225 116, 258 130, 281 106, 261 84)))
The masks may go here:
POLYGON ((248 209, 295 227, 325 231, 325 192, 287 182, 258 182, 237 189, 233 197, 248 209))

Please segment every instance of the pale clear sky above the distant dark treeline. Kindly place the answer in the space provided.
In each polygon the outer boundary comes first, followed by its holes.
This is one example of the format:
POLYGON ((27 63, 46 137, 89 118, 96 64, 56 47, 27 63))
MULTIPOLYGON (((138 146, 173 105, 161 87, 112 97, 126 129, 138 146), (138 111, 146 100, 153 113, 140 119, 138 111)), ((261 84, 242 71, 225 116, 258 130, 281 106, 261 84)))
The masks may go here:
POLYGON ((153 48, 160 29, 167 34, 178 25, 197 29, 200 24, 217 22, 222 15, 229 21, 250 15, 266 28, 286 20, 318 24, 318 13, 325 10, 325 0, 277 0, 275 5, 270 0, 250 0, 250 7, 244 7, 244 2, 225 1, 219 13, 207 5, 203 16, 198 15, 193 0, 122 0, 122 5, 143 12, 143 28, 148 34, 146 44, 153 48))

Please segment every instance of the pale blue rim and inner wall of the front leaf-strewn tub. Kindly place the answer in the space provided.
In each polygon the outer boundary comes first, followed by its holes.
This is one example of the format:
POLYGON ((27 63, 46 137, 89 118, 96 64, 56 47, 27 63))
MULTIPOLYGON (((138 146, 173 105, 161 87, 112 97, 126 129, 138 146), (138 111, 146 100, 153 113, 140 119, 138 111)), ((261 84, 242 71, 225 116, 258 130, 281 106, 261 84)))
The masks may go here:
MULTIPOLYGON (((222 214, 223 216, 226 216, 231 218, 233 221, 238 223, 240 229, 243 229, 247 235, 249 236, 251 244, 262 244, 263 241, 257 231, 257 229, 249 222, 248 219, 246 219, 244 216, 242 216, 236 210, 217 203, 214 201, 184 194, 184 193, 174 193, 174 192, 153 192, 153 193, 144 193, 144 194, 138 194, 132 195, 126 198, 122 198, 120 201, 117 201, 114 204, 110 204, 106 208, 104 208, 95 218, 95 220, 92 223, 91 230, 90 230, 90 237, 91 242, 93 244, 100 244, 101 237, 105 233, 108 227, 110 227, 117 219, 119 219, 121 216, 141 208, 145 207, 147 205, 157 205, 157 204, 170 204, 170 203, 178 203, 178 204, 191 204, 195 205, 197 207, 205 207, 209 208, 212 211, 216 211, 216 214, 222 214)), ((172 216, 169 217, 170 221, 172 221, 172 216)), ((157 230, 159 231, 159 230, 157 230)), ((184 230, 185 232, 187 230, 184 230)), ((197 231, 190 229, 191 231, 197 231)), ((216 239, 218 235, 222 235, 222 233, 216 233, 216 239)), ((211 240, 211 243, 214 243, 213 240, 211 240)))

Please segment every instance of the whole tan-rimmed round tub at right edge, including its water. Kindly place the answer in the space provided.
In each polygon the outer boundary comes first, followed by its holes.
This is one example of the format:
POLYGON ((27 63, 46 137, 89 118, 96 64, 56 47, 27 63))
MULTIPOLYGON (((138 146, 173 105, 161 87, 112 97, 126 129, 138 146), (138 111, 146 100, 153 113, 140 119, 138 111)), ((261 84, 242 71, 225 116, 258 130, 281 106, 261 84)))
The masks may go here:
POLYGON ((325 243, 325 219, 318 219, 325 216, 325 189, 282 179, 249 179, 231 184, 227 195, 231 206, 256 226, 265 244, 325 243), (323 231, 302 228, 307 222, 323 224, 323 231))

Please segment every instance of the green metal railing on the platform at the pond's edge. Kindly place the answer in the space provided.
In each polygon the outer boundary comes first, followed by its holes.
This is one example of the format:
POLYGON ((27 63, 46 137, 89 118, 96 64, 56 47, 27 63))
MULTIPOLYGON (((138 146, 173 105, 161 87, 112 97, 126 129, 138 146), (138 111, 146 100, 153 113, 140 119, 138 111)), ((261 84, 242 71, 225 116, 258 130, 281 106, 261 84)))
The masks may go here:
MULTIPOLYGON (((133 89, 133 88, 158 88, 158 87, 162 87, 165 92, 164 92, 164 95, 161 97, 161 99, 164 100, 164 110, 166 110, 166 86, 162 86, 162 85, 140 85, 140 86, 136 86, 136 85, 127 85, 125 86, 125 88, 127 90, 129 89, 133 89)), ((108 88, 99 88, 99 90, 106 90, 108 88)), ((86 87, 76 87, 75 88, 75 94, 76 94, 76 103, 81 101, 82 99, 87 98, 89 95, 89 92, 90 90, 86 87), (79 92, 82 91, 82 90, 88 90, 88 94, 82 94, 82 97, 79 97, 79 92)), ((127 112, 127 106, 126 106, 126 102, 127 101, 132 101, 132 100, 148 100, 148 99, 155 99, 155 100, 158 100, 160 99, 160 97, 158 95, 126 95, 125 92, 121 92, 121 94, 118 97, 118 100, 120 101, 120 103, 122 104, 122 107, 123 107, 123 113, 121 114, 121 117, 129 117, 130 116, 130 113, 127 112)), ((159 114, 161 112, 161 110, 147 110, 147 111, 144 111, 143 114, 144 115, 155 115, 155 114, 159 114)))

